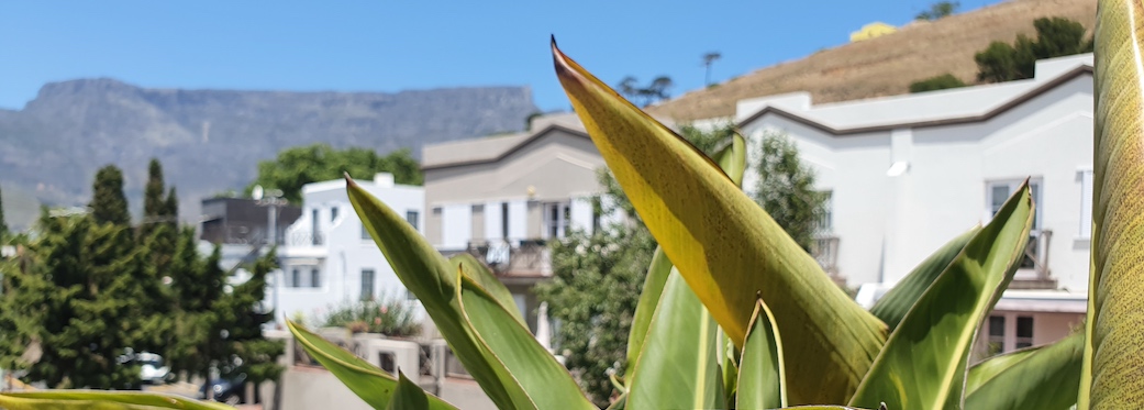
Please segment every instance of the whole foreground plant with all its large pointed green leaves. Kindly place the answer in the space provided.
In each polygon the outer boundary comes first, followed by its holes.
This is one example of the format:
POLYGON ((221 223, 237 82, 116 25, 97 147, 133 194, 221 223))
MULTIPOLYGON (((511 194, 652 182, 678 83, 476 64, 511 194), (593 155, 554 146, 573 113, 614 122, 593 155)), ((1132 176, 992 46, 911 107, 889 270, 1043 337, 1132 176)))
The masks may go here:
MULTIPOLYGON (((1028 238, 1034 204, 1027 184, 988 224, 937 250, 867 312, 742 194, 741 137, 705 157, 554 42, 556 72, 575 111, 661 246, 633 323, 628 369, 613 378, 622 394, 612 407, 1144 408, 1144 31, 1136 24, 1144 7, 1101 1, 1097 19, 1086 331, 972 366, 977 331, 1028 238)), ((498 407, 594 408, 535 341, 492 273, 471 257, 444 258, 402 215, 348 181, 374 242, 498 407)), ((311 356, 375 408, 454 408, 403 374, 289 326, 311 356)), ((143 405, 150 397, 3 394, 0 405, 143 405)))

